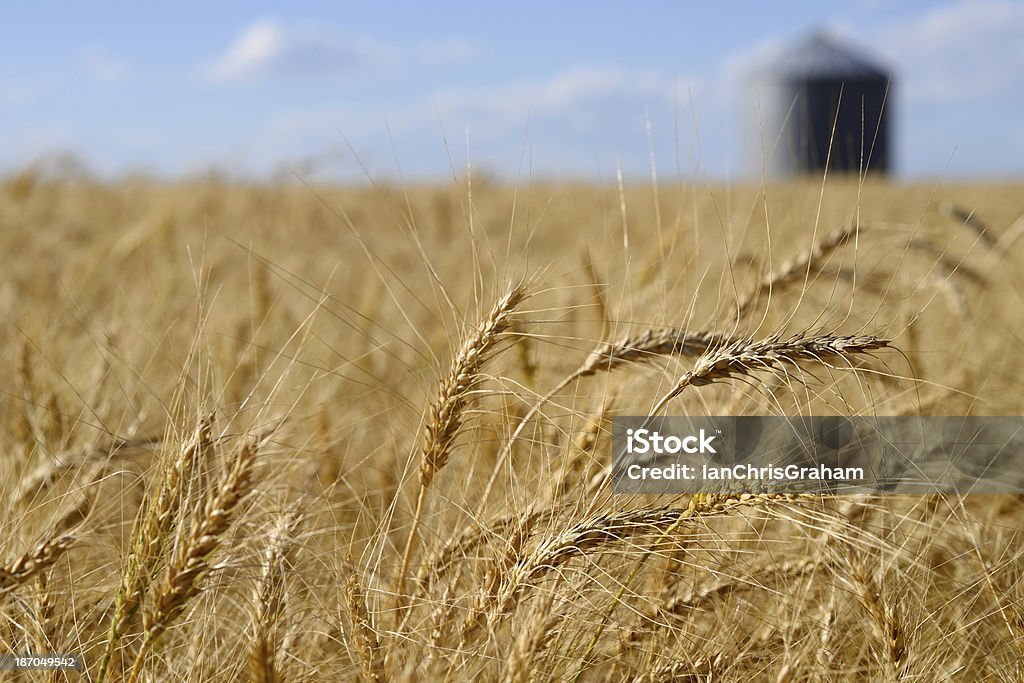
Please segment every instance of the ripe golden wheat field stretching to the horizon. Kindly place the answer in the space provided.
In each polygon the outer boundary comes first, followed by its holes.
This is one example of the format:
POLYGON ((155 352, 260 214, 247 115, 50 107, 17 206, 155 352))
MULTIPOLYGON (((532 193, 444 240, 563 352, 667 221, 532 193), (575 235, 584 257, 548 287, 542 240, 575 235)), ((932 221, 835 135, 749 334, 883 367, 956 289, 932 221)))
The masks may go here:
POLYGON ((0 183, 0 654, 1018 681, 1024 499, 623 496, 616 415, 1021 415, 1024 187, 0 183), (664 409, 664 410, 663 410, 664 409))

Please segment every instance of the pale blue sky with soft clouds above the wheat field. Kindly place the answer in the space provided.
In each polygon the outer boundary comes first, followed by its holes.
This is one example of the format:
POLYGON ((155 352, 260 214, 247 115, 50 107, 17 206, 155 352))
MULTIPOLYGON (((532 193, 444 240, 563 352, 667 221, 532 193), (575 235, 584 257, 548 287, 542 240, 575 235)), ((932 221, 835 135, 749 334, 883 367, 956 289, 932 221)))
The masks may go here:
POLYGON ((827 26, 903 177, 1024 175, 1024 3, 4 3, 0 170, 742 177, 741 75, 827 26))

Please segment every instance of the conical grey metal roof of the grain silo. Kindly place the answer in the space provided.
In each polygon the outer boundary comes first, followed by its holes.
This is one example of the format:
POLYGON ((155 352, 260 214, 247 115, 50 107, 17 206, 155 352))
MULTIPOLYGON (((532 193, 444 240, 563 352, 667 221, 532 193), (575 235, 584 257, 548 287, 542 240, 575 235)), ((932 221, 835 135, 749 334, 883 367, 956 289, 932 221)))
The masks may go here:
POLYGON ((827 32, 815 32, 784 49, 762 75, 782 80, 888 79, 889 70, 827 32))

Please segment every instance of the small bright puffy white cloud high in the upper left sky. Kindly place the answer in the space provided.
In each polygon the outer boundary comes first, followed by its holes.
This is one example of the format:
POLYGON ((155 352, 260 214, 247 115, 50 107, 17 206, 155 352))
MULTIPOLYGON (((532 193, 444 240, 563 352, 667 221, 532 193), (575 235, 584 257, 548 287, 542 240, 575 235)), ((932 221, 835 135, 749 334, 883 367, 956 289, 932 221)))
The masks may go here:
POLYGON ((359 78, 392 69, 398 51, 365 37, 272 19, 250 25, 204 76, 209 81, 338 77, 359 78))

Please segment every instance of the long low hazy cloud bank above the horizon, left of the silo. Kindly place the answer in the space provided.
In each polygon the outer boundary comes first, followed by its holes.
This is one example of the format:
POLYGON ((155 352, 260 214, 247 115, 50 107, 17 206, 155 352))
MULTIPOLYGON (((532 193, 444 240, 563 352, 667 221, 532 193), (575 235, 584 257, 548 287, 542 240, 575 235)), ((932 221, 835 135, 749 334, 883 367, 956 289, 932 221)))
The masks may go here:
MULTIPOLYGON (((687 83, 678 83, 679 105, 685 110, 687 83)), ((266 159, 296 160, 337 144, 344 135, 372 173, 393 171, 393 144, 403 170, 431 174, 443 169, 447 154, 461 154, 465 132, 470 157, 482 167, 514 168, 525 141, 530 168, 539 173, 587 175, 613 169, 621 160, 628 173, 643 175, 649 168, 646 121, 670 165, 674 117, 690 126, 689 115, 675 110, 675 78, 654 70, 577 66, 534 81, 411 96, 384 110, 358 104, 294 110, 265 121, 257 137, 266 159), (442 142, 451 145, 447 152, 442 142), (598 166, 599 158, 604 166, 598 166)), ((340 165, 359 170, 347 155, 340 165)))

